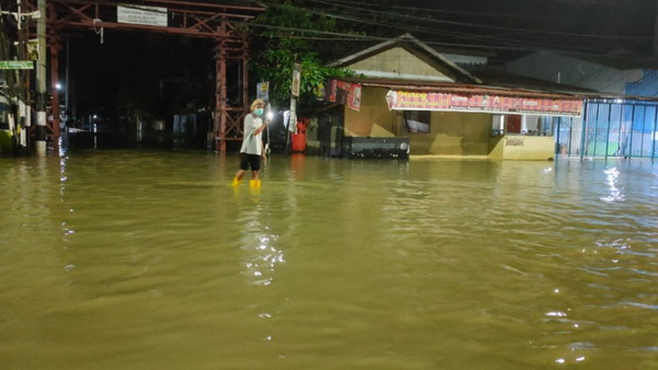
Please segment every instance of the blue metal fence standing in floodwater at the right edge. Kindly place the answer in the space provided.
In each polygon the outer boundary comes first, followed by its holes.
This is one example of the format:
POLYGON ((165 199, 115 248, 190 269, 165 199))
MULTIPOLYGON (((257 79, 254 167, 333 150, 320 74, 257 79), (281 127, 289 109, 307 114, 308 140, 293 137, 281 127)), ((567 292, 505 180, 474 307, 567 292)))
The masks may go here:
POLYGON ((588 100, 582 118, 555 117, 558 155, 658 157, 658 102, 588 100))

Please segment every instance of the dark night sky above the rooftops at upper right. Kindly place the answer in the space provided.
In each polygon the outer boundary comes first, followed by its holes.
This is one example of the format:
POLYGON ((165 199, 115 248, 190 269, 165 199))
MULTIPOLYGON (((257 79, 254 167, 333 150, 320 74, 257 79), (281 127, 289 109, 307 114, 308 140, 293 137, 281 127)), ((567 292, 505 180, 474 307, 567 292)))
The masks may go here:
POLYGON ((656 67, 656 0, 417 0, 443 38, 489 50, 556 50, 619 67, 656 67), (446 23, 442 23, 442 22, 446 23), (479 44, 479 45, 478 45, 479 44))

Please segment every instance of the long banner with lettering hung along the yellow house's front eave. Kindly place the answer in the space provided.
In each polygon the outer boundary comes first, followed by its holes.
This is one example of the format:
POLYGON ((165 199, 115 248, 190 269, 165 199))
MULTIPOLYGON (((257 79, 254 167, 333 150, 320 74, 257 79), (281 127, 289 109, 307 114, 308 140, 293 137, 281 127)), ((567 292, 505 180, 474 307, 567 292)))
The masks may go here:
POLYGON ((580 116, 582 100, 536 99, 484 94, 452 94, 390 90, 386 94, 389 109, 456 111, 486 113, 527 113, 580 116))

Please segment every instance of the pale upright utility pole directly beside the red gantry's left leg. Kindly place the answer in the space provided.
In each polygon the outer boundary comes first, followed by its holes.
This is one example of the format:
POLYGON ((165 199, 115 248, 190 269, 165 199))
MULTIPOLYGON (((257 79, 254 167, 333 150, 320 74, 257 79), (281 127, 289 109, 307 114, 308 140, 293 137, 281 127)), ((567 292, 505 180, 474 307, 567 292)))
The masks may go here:
POLYGON ((36 67, 36 154, 46 155, 46 0, 38 0, 36 23, 38 60, 36 67))

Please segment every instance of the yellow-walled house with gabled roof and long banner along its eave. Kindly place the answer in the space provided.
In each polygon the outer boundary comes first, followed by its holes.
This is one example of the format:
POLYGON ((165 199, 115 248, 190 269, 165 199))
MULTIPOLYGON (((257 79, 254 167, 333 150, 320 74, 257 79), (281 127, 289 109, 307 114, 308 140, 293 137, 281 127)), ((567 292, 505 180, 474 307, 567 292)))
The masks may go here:
POLYGON ((551 160, 556 119, 579 117, 568 92, 487 85, 410 35, 331 63, 358 78, 328 83, 308 150, 324 155, 551 160))

